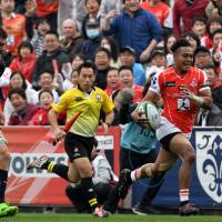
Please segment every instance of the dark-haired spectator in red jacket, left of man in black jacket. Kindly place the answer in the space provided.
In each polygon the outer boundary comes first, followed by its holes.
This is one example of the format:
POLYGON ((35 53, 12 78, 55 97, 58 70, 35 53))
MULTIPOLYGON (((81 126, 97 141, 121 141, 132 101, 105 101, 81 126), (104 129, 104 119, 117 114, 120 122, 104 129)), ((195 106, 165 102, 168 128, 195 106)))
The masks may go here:
POLYGON ((33 53, 33 47, 30 42, 23 41, 19 46, 18 57, 13 59, 10 64, 12 72, 20 71, 24 78, 31 82, 31 74, 34 70, 36 54, 33 53))

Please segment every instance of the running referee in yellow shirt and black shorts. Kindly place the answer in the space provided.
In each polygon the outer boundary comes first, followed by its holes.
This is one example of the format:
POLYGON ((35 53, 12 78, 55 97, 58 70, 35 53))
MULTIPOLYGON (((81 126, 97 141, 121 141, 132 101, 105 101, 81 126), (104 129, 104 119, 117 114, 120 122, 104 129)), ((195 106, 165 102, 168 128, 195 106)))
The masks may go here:
MULTIPOLYGON (((56 138, 64 139, 65 152, 70 159, 69 168, 62 164, 53 164, 43 155, 33 162, 32 168, 47 169, 61 178, 77 183, 81 180, 82 193, 95 216, 104 218, 109 213, 98 205, 92 184, 92 168, 90 163, 91 151, 94 145, 94 134, 100 121, 100 112, 105 113, 104 128, 113 121, 113 103, 109 95, 101 89, 93 87, 95 80, 95 67, 90 62, 80 65, 78 71, 78 88, 64 92, 60 101, 49 111, 49 122, 53 128, 56 138), (69 132, 65 134, 58 125, 57 117, 60 112, 67 112, 67 121, 81 112, 69 132)), ((29 167, 30 168, 30 167, 29 167)))

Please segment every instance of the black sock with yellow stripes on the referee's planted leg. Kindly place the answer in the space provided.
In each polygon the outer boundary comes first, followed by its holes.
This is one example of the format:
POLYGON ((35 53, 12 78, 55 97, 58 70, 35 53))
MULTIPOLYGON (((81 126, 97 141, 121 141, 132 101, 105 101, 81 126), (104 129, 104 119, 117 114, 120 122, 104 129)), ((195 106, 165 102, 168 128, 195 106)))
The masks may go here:
POLYGON ((93 212, 99 204, 93 189, 92 178, 82 178, 81 188, 82 193, 84 194, 85 200, 88 200, 88 203, 93 212))

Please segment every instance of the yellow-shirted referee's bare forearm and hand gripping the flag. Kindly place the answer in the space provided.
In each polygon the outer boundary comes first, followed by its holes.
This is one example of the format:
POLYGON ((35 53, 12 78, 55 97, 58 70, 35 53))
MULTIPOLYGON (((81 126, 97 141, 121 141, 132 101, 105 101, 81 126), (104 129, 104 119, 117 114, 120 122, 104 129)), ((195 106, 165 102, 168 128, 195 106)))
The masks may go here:
POLYGON ((65 132, 63 132, 59 124, 58 124, 58 113, 54 112, 53 109, 51 109, 48 113, 48 119, 49 119, 49 123, 51 124, 56 139, 57 141, 61 140, 62 138, 64 138, 65 132))

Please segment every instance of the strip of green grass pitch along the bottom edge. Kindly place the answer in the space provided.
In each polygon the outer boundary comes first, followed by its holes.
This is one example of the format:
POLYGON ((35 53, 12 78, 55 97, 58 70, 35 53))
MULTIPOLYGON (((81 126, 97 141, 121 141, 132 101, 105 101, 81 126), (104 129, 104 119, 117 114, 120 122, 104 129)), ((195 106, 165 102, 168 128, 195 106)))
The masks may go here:
POLYGON ((222 222, 222 215, 198 215, 181 218, 179 215, 134 215, 115 214, 107 219, 97 219, 89 214, 51 214, 51 213, 19 213, 14 218, 0 219, 6 222, 222 222))

